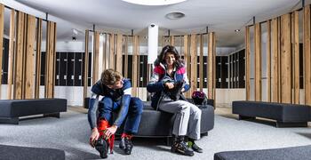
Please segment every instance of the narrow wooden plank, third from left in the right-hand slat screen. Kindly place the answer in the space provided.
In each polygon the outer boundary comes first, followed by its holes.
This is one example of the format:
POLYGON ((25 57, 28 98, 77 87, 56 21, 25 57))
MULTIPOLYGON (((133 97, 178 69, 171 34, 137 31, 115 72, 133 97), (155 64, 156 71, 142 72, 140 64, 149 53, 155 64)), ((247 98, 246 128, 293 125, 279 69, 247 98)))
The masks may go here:
POLYGON ((267 101, 271 101, 271 20, 267 20, 267 101))

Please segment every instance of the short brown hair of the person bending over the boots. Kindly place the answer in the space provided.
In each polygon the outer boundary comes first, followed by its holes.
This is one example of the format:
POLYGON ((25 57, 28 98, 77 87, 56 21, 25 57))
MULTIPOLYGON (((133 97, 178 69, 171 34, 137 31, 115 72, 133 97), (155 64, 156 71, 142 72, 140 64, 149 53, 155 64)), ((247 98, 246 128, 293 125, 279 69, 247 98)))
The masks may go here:
POLYGON ((123 78, 118 71, 108 68, 101 73, 100 80, 102 84, 114 85, 123 78))

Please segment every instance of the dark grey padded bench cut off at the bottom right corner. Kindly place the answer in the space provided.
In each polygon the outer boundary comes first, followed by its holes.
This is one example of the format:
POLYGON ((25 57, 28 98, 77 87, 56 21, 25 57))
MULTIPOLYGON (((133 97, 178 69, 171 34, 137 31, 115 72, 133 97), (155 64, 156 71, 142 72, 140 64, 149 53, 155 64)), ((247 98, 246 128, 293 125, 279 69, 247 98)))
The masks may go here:
POLYGON ((227 151, 214 154, 214 160, 292 160, 311 159, 311 145, 291 148, 227 151))

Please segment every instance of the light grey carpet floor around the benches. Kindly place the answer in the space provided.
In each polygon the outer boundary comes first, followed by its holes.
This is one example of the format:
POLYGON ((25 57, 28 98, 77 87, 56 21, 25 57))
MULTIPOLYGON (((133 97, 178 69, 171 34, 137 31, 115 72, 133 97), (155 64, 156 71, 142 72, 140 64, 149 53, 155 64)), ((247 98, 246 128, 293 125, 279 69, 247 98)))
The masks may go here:
MULTIPOLYGON (((66 159, 99 159, 98 152, 88 145, 90 128, 86 114, 69 109, 60 119, 27 118, 19 125, 0 124, 0 144, 35 148, 57 148, 65 151, 66 159)), ((233 116, 215 116, 215 127, 197 144, 202 154, 172 154, 165 139, 134 140, 131 156, 117 148, 108 159, 213 159, 214 153, 229 150, 284 148, 311 144, 311 127, 275 128, 268 121, 238 121, 233 116)), ((0 156, 1 157, 1 156, 0 156)))

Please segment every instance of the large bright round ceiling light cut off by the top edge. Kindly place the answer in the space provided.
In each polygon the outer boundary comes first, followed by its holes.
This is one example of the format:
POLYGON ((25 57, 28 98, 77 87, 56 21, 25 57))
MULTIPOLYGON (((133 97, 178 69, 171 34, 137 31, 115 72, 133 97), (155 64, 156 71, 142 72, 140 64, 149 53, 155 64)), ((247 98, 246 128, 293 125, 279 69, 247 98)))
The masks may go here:
POLYGON ((178 4, 187 0, 123 0, 124 2, 140 5, 169 5, 178 4))

